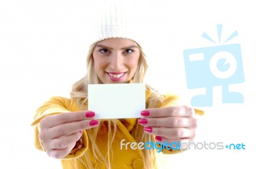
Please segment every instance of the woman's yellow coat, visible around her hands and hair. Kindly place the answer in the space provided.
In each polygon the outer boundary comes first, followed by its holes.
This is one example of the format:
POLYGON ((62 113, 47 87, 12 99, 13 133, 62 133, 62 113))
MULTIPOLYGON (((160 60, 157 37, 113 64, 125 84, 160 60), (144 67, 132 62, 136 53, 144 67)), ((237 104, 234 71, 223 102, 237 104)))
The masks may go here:
MULTIPOLYGON (((151 92, 146 91, 146 100, 150 96, 151 92)), ((170 106, 170 103, 175 99, 176 96, 166 96, 166 101, 164 102, 161 107, 166 107, 167 105, 170 106)), ((39 149, 41 151, 44 151, 44 145, 42 145, 42 142, 40 142, 38 138, 38 133, 40 131, 39 122, 41 119, 43 119, 47 115, 52 114, 61 114, 63 112, 77 112, 81 111, 81 108, 78 107, 76 101, 74 99, 67 99, 67 98, 61 98, 61 97, 52 97, 49 101, 44 103, 42 107, 38 108, 35 115, 35 120, 31 124, 35 127, 35 147, 36 149, 39 149)), ((196 114, 202 115, 202 111, 195 111, 196 114)), ((121 121, 117 121, 117 130, 115 139, 113 140, 113 154, 112 155, 112 168, 124 168, 124 169, 130 169, 130 168, 143 168, 143 154, 140 149, 131 149, 130 146, 128 146, 127 150, 125 149, 125 146, 123 146, 123 149, 120 149, 120 142, 121 140, 125 139, 124 143, 127 142, 136 142, 134 138, 132 138, 129 131, 134 127, 136 124, 136 119, 122 119, 121 121), (142 162, 141 162, 142 161, 142 162)), ((98 136, 100 139, 97 139, 97 145, 102 145, 100 147, 100 151, 102 154, 107 153, 107 143, 108 143, 108 135, 106 135, 107 131, 106 129, 102 129, 99 131, 98 136)), ((89 152, 89 156, 91 159, 93 159, 92 154, 92 145, 88 141, 88 136, 86 131, 83 131, 83 139, 84 139, 84 148, 80 149, 76 152, 75 155, 68 155, 65 158, 61 159, 61 163, 64 169, 71 169, 71 168, 83 168, 83 163, 81 163, 81 160, 78 159, 78 157, 81 157, 85 151, 89 152)), ((163 150, 164 154, 175 154, 179 151, 168 151, 163 150)), ((82 156, 84 158, 84 156, 82 156)), ((104 168, 103 166, 99 166, 99 164, 93 163, 95 168, 104 168)))

